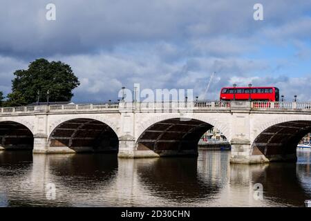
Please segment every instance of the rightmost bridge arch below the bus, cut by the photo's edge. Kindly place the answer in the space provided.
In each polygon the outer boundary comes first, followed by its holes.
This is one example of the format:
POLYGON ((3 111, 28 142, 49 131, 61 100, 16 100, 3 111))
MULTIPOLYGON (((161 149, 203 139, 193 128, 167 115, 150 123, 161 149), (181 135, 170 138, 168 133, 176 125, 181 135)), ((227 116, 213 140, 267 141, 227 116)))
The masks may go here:
POLYGON ((251 146, 252 155, 269 161, 296 161, 296 146, 311 132, 310 115, 278 117, 258 127, 251 146))

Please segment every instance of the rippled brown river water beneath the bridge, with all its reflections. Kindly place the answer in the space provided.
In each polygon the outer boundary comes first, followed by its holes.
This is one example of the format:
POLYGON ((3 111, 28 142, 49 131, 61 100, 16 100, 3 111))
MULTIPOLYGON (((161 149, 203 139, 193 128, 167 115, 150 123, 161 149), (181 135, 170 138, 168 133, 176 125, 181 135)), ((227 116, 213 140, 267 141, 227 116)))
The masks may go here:
POLYGON ((1 151, 0 206, 304 206, 310 153, 298 151, 296 164, 242 165, 229 164, 229 151, 135 160, 1 151))

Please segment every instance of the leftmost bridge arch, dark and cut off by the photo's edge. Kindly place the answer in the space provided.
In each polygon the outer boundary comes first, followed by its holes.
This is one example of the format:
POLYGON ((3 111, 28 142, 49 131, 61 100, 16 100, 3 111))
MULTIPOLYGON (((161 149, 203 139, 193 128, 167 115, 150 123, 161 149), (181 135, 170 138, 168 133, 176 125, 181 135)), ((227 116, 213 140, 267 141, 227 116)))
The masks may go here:
POLYGON ((32 149, 34 136, 22 122, 12 120, 0 121, 0 150, 32 149))

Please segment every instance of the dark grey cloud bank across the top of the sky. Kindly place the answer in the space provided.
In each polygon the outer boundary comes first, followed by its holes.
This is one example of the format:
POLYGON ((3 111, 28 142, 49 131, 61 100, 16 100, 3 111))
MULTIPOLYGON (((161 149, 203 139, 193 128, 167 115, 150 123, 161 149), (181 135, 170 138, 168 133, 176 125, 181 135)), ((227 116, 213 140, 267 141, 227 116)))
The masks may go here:
POLYGON ((45 6, 50 1, 5 0, 6 7, 0 9, 0 52, 42 57, 111 50, 128 42, 187 42, 228 33, 251 36, 271 25, 286 26, 310 8, 305 1, 287 2, 290 6, 281 0, 262 1, 266 19, 256 22, 252 19, 256 1, 248 0, 55 0, 57 20, 46 21, 45 6))

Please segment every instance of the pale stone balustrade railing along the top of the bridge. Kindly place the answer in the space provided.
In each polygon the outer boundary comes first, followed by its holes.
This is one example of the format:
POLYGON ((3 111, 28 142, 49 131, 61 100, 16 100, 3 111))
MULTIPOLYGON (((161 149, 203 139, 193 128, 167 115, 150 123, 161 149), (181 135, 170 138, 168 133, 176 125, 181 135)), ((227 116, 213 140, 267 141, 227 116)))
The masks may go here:
POLYGON ((230 101, 195 101, 195 102, 120 102, 104 104, 53 104, 41 106, 18 106, 0 108, 0 114, 32 112, 75 112, 75 111, 209 111, 231 110, 241 105, 254 111, 303 110, 311 111, 311 102, 235 102, 230 101), (241 104, 240 104, 241 103, 241 104))

